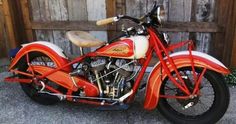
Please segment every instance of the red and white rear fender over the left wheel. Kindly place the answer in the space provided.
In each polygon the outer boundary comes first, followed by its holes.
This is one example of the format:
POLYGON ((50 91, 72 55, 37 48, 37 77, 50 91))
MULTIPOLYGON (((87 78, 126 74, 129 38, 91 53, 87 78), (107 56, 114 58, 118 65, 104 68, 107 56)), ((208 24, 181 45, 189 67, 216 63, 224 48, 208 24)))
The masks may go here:
MULTIPOLYGON (((44 53, 45 55, 49 56, 56 63, 58 67, 62 67, 63 65, 69 62, 68 58, 63 53, 63 50, 58 46, 46 41, 37 41, 22 45, 20 51, 11 61, 9 70, 16 68, 17 64, 21 62, 20 61, 21 58, 30 52, 44 53)), ((63 70, 69 72, 71 71, 71 67, 63 68, 63 70)))

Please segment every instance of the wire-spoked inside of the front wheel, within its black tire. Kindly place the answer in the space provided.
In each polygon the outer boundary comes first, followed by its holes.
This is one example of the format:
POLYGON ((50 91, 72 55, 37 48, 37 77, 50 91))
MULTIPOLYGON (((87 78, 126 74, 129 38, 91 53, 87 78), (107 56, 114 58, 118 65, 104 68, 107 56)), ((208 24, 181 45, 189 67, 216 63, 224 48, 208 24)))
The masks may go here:
MULTIPOLYGON (((188 80, 188 82, 193 83, 193 72, 192 71, 181 71, 180 72, 182 76, 186 76, 186 80, 188 80)), ((196 72, 196 75, 199 77, 201 73, 196 72)), ((173 75, 174 76, 174 75, 173 75)), ((194 84, 189 84, 194 85, 194 84)), ((210 106, 212 105, 213 101, 214 101, 214 91, 212 90, 212 86, 210 84, 210 82, 203 76, 202 81, 201 81, 201 88, 200 88, 200 92, 202 92, 202 94, 200 94, 200 98, 195 98, 196 101, 191 100, 191 99, 179 99, 179 100, 173 100, 173 99, 168 99, 166 98, 166 100, 168 101, 168 104, 177 112, 182 113, 186 116, 197 116, 197 115, 201 115, 203 113, 205 113, 206 111, 208 111, 208 109, 210 108, 210 106), (206 98, 207 97, 207 98, 206 98), (203 101, 204 102, 203 102, 203 101), (186 106, 187 104, 189 104, 190 102, 194 102, 194 105, 187 108, 187 109, 180 109, 184 106, 186 106), (209 103, 206 104, 206 103, 209 103)), ((164 94, 165 95, 172 95, 172 96, 176 96, 176 95, 181 95, 181 92, 178 91, 178 88, 173 87, 172 82, 170 82, 169 80, 166 81, 165 86, 164 86, 164 94)))

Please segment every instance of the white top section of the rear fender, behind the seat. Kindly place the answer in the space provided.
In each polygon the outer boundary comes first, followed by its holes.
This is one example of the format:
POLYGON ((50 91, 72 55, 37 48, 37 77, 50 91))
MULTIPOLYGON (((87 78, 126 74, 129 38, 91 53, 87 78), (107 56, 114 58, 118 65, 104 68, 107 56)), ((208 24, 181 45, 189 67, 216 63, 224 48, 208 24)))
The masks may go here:
POLYGON ((68 59, 60 47, 58 47, 57 45, 52 44, 50 42, 47 42, 47 41, 36 41, 36 42, 32 42, 32 43, 22 44, 22 47, 26 47, 26 46, 32 45, 32 44, 40 44, 40 45, 47 46, 50 49, 52 49, 53 51, 55 51, 59 56, 65 58, 65 59, 68 59))

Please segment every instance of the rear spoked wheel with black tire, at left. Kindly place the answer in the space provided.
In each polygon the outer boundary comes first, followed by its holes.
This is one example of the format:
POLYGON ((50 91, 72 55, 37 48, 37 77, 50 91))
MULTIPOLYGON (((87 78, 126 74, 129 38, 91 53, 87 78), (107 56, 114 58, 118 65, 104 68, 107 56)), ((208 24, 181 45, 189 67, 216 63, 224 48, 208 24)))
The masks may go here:
MULTIPOLYGON (((57 67, 56 63, 53 62, 48 56, 39 52, 30 53, 29 61, 31 65, 43 65, 43 66, 48 66, 52 68, 57 67)), ((31 73, 28 71, 28 68, 29 66, 27 65, 26 59, 24 59, 23 62, 21 62, 21 64, 19 65, 18 70, 22 72, 26 72, 26 73, 31 73)), ((30 78, 30 77, 19 75, 19 78, 24 79, 24 78, 30 78)), ((51 82, 48 79, 43 79, 43 83, 57 90, 62 89, 62 87, 51 82)), ((20 85, 23 91, 26 93, 26 95, 39 104, 53 105, 59 102, 59 98, 57 96, 52 96, 45 93, 39 93, 39 91, 42 89, 42 86, 36 85, 33 82, 30 84, 20 83, 20 85)), ((44 91, 50 92, 50 91, 47 91, 46 89, 44 91)))

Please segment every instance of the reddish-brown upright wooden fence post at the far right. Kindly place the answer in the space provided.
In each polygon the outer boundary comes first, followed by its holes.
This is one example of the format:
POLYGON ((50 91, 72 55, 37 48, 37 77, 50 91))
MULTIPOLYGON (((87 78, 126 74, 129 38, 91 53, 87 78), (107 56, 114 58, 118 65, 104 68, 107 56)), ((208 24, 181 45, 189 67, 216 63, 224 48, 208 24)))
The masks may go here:
POLYGON ((233 44, 232 27, 234 0, 217 0, 216 1, 216 22, 223 28, 222 33, 216 33, 213 42, 210 44, 210 53, 221 60, 226 66, 230 66, 231 52, 233 44))

